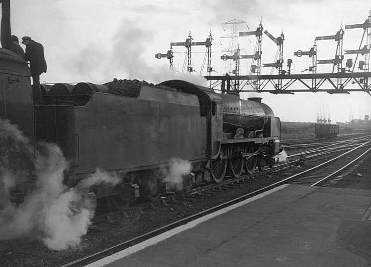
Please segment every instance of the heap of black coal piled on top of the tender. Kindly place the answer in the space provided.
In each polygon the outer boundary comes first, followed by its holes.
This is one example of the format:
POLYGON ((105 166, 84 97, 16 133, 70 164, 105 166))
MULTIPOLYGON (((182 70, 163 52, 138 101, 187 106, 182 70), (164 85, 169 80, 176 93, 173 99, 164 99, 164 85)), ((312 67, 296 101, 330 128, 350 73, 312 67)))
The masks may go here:
POLYGON ((172 90, 176 91, 176 89, 163 86, 163 85, 154 85, 147 83, 146 81, 139 81, 137 79, 135 80, 118 80, 118 79, 113 79, 112 82, 108 82, 104 84, 106 87, 109 88, 108 93, 111 94, 118 94, 118 95, 125 95, 129 97, 138 97, 140 93, 140 88, 142 86, 148 86, 148 87, 156 87, 156 88, 161 88, 165 90, 172 90))

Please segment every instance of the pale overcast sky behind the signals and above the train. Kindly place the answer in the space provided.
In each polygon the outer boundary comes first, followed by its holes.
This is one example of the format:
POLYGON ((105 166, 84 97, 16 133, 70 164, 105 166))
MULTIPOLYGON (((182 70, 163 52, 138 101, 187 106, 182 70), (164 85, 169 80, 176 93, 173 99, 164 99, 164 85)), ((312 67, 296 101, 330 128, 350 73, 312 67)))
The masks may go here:
MULTIPOLYGON (((11 25, 19 39, 30 36, 44 45, 48 70, 41 75, 42 82, 186 79, 205 86, 199 73, 177 74, 169 70, 167 59, 154 55, 166 53, 170 42, 185 42, 189 31, 194 42, 204 42, 211 31, 212 67, 215 75, 222 75, 226 71, 220 56, 231 41, 221 38, 231 31, 223 23, 246 21, 238 31, 254 31, 262 18, 264 29, 273 36, 283 30, 284 63, 292 58, 293 73, 299 74, 310 60, 294 57, 295 51, 308 51, 316 36, 335 35, 340 25, 363 23, 370 9, 370 0, 11 0, 11 25)), ((344 50, 358 49, 362 34, 363 29, 346 30, 344 50)), ((255 42, 253 36, 240 38, 241 54, 252 54, 255 42)), ((263 36, 262 46, 262 63, 273 63, 277 45, 263 36)), ((319 41, 317 47, 318 59, 334 57, 335 41, 319 41)), ((192 47, 193 68, 198 72, 205 51, 203 46, 192 47)), ((174 47, 174 55, 174 67, 182 71, 185 47, 174 47)), ((242 75, 250 63, 241 60, 242 75)), ((319 66, 317 72, 329 72, 328 67, 319 66)), ((365 92, 243 94, 248 96, 262 97, 282 121, 315 122, 316 104, 325 104, 326 113, 328 105, 332 122, 348 121, 351 108, 354 119, 371 115, 371 96, 365 92)))

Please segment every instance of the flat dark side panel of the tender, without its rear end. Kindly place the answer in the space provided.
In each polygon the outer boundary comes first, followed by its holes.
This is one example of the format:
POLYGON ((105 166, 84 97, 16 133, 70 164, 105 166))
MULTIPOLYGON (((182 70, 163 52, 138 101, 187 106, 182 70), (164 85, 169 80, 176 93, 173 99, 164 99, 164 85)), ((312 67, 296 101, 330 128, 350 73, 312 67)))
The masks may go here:
POLYGON ((87 108, 76 114, 79 172, 94 166, 143 168, 166 164, 173 157, 196 160, 205 156, 205 119, 200 117, 198 103, 116 98, 94 94, 87 108))

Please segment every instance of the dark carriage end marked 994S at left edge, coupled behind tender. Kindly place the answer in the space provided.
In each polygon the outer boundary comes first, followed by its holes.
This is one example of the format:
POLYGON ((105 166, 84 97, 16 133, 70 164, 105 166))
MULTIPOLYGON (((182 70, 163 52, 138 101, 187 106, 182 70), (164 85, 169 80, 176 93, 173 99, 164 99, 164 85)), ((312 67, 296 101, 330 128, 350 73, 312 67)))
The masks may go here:
MULTIPOLYGON (((34 145, 34 109, 30 83, 30 69, 26 62, 15 53, 0 48, 0 118, 16 125, 22 134, 34 145)), ((17 173, 17 182, 28 181, 30 173, 17 172, 32 170, 33 151, 26 148, 19 134, 10 128, 0 138, 1 163, 17 173), (12 133, 12 134, 9 134, 12 133), (17 136, 17 137, 15 137, 17 136)), ((27 186, 17 183, 14 190, 25 194, 27 186)))

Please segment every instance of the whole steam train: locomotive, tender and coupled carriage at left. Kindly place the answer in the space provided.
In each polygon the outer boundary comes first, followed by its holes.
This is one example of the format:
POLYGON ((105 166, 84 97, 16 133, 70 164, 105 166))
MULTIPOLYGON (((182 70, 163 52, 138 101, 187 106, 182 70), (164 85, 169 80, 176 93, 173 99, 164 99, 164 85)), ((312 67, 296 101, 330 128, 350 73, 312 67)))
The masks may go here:
MULTIPOLYGON (((97 167, 119 174, 120 185, 93 188, 97 198, 156 198, 167 190, 161 168, 173 158, 191 163, 191 182, 221 182, 226 174, 272 166, 282 150, 279 118, 260 98, 241 100, 171 80, 141 86, 135 97, 90 83, 44 86, 43 105, 34 105, 30 76, 19 56, 0 48, 0 118, 17 125, 34 146, 38 140, 58 144, 70 162, 64 179, 69 186, 97 167)), ((10 152, 9 139, 0 142, 8 148, 2 159, 22 160, 24 150, 10 152)), ((23 201, 31 180, 18 181, 13 202, 23 201)))

